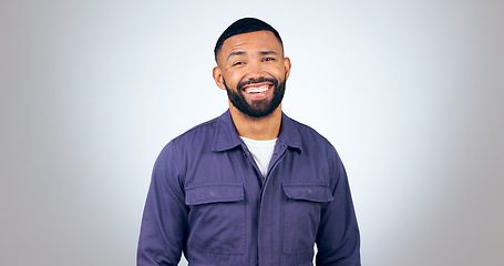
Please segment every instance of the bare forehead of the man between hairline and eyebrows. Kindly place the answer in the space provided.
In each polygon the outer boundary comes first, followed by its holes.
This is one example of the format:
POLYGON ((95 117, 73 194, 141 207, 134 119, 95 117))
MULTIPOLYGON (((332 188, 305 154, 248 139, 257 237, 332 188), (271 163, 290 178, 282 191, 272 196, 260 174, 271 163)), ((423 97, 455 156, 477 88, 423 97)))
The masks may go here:
POLYGON ((270 31, 254 31, 229 37, 224 41, 219 55, 227 57, 233 52, 275 51, 282 54, 282 47, 270 31))

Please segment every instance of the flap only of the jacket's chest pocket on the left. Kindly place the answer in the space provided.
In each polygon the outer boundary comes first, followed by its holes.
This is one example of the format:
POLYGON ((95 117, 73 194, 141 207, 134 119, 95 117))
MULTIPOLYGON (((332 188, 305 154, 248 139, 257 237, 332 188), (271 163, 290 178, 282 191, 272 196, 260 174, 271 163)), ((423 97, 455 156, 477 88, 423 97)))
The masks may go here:
POLYGON ((244 200, 243 184, 209 184, 187 187, 185 203, 198 205, 217 202, 239 202, 244 200))

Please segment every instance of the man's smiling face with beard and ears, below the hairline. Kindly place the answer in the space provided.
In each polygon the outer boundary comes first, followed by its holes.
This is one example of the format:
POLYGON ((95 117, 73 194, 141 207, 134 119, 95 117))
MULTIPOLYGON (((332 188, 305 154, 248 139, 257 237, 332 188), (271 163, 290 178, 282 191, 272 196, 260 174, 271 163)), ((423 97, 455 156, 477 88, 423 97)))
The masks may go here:
POLYGON ((217 54, 214 79, 229 101, 250 117, 264 117, 281 103, 290 61, 270 31, 230 37, 217 54))

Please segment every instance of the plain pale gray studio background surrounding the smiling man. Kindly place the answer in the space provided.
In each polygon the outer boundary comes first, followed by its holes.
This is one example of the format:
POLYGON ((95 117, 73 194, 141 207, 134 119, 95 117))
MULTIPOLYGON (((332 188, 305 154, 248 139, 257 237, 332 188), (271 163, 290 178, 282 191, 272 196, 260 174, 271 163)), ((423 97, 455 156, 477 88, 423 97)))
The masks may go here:
POLYGON ((238 18, 347 166, 370 266, 502 265, 504 3, 0 1, 0 265, 134 265, 161 149, 223 113, 238 18))

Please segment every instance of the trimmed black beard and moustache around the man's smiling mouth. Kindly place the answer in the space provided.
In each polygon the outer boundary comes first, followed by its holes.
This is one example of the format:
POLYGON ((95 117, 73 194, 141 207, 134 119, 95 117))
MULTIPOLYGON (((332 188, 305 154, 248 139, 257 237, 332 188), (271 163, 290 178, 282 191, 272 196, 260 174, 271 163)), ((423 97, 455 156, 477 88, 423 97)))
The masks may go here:
POLYGON ((284 93, 286 91, 286 80, 278 83, 278 80, 274 78, 260 78, 258 80, 250 79, 247 82, 239 82, 238 85, 236 86, 236 91, 229 89, 224 79, 223 81, 224 86, 226 86, 227 96, 229 98, 229 101, 233 103, 233 105, 236 109, 238 109, 238 111, 240 111, 241 113, 255 119, 265 117, 271 114, 272 111, 275 111, 278 108, 278 105, 280 105, 281 100, 284 99, 284 93), (268 101, 266 99, 256 100, 253 101, 251 104, 248 104, 247 100, 245 100, 244 91, 241 89, 248 84, 266 81, 271 82, 274 84, 272 86, 274 94, 271 101, 268 101))

